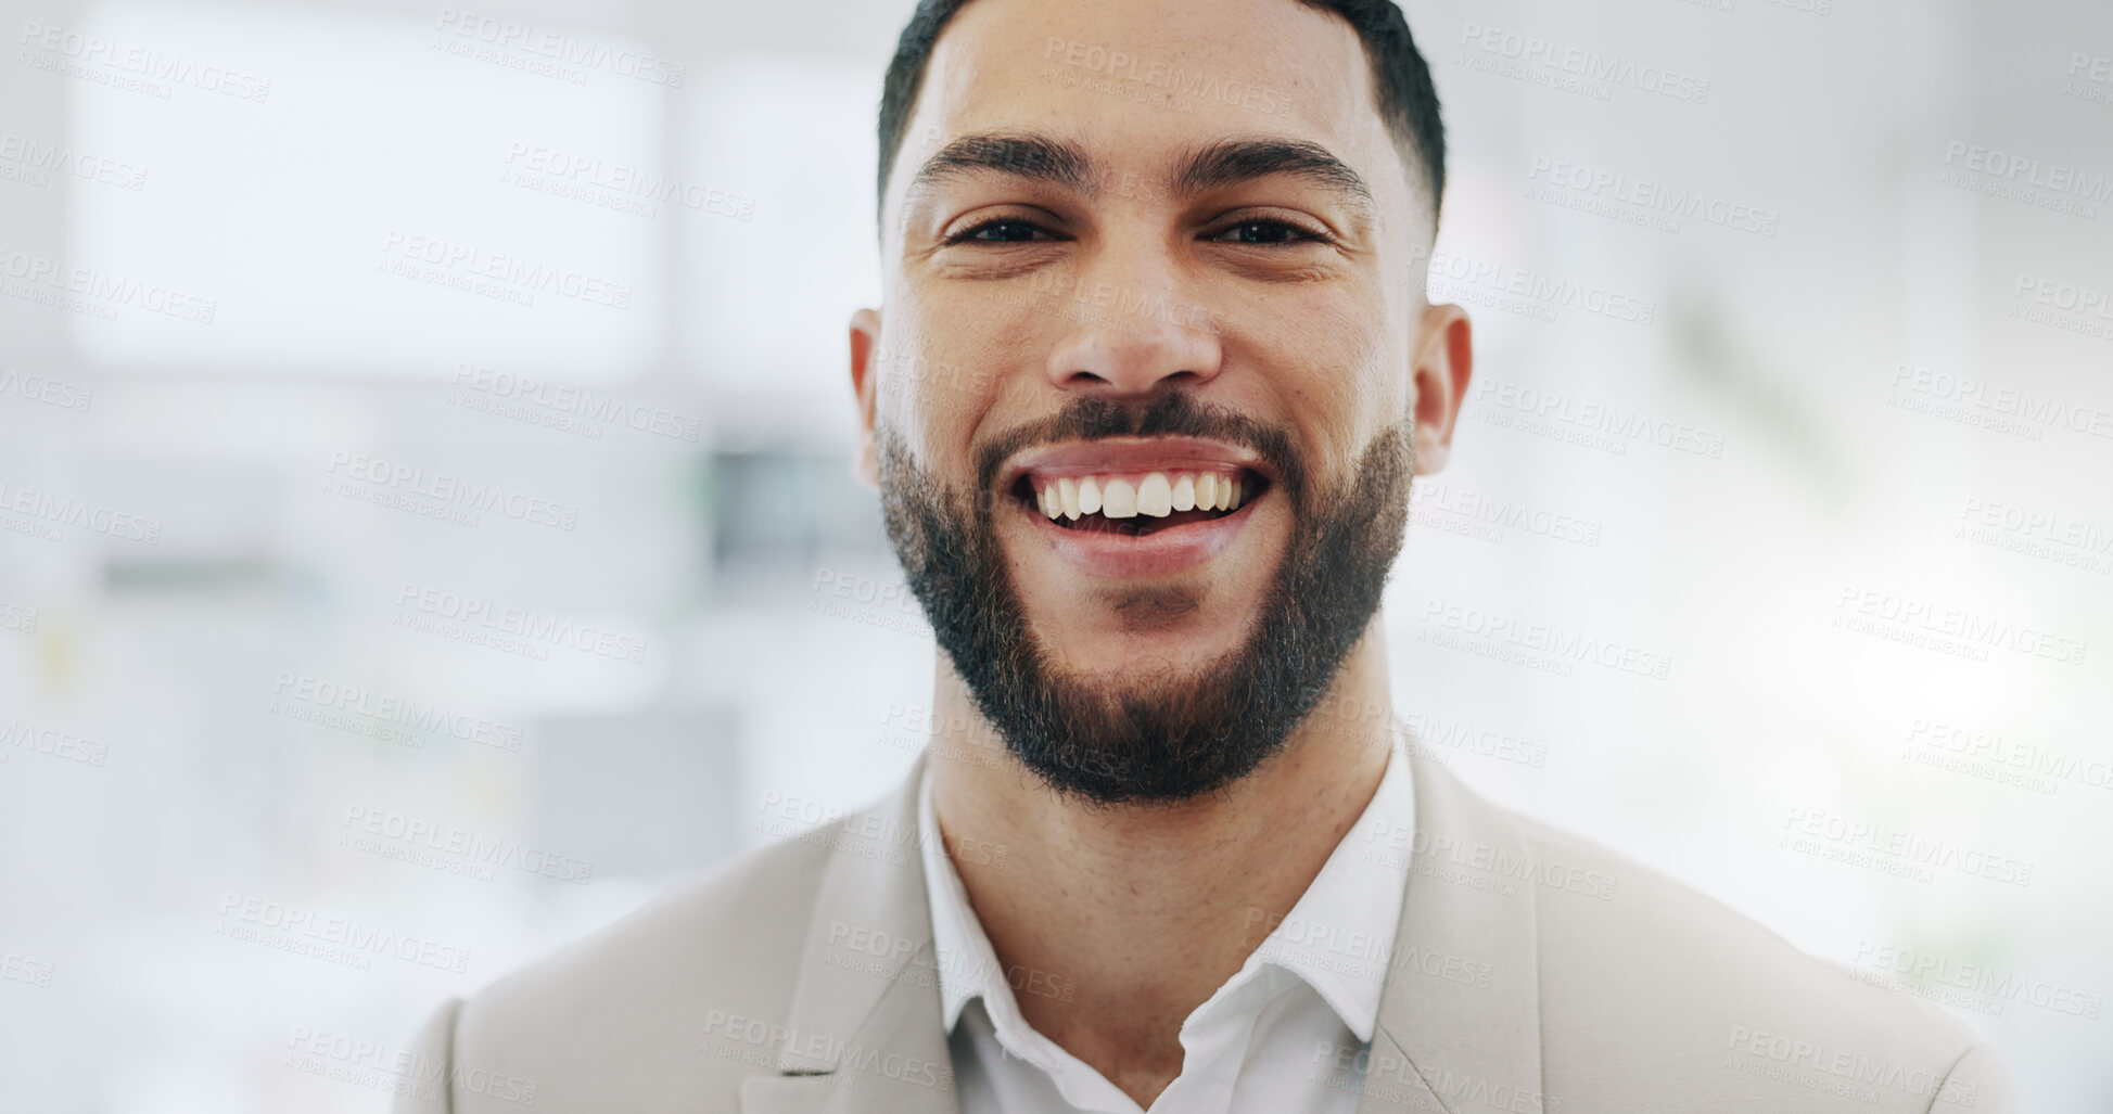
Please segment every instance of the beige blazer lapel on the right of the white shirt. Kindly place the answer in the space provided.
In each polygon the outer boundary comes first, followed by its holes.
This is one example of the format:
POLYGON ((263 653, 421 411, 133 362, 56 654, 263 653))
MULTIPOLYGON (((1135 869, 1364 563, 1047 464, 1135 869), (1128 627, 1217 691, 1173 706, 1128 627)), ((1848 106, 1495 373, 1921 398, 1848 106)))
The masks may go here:
POLYGON ((1409 763, 1409 884, 1357 1110, 1547 1110, 1536 865, 1502 812, 1445 767, 1409 763))

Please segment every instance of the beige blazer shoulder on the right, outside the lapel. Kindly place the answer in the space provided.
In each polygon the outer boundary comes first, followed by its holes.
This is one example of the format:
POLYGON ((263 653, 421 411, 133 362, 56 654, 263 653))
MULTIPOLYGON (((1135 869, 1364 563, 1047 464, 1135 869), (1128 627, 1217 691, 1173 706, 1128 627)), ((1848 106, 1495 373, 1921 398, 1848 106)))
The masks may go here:
POLYGON ((2001 1063, 1944 1010, 1807 955, 1591 839, 1513 820, 1540 879, 1551 1095, 1557 1065, 1589 1078, 1593 1063, 1629 1063, 1690 1095, 1805 1095, 1821 1103, 1811 1110, 1832 1110, 1826 1097, 1859 1110, 2007 1108, 2001 1063))

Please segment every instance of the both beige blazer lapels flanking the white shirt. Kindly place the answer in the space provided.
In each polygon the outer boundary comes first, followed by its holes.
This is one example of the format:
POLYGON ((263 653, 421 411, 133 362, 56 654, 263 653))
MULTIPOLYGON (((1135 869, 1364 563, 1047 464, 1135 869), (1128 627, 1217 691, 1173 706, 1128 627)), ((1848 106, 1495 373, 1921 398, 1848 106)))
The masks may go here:
MULTIPOLYGON (((1547 1110, 1540 1093, 1540 862, 1517 822, 1424 757, 1409 833, 1352 831, 1409 871, 1359 1114, 1547 1110)), ((925 759, 849 816, 822 871, 778 1076, 744 1114, 957 1114, 917 846, 925 759)))

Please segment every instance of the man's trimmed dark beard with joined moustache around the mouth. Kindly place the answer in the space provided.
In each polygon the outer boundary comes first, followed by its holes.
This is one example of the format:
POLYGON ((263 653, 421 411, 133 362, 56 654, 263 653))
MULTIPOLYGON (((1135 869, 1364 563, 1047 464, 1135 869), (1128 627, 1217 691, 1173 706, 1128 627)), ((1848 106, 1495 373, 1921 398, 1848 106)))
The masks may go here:
MULTIPOLYGON (((1276 755, 1357 647, 1401 552, 1414 442, 1407 419, 1386 427, 1352 480, 1316 499, 1289 435, 1188 393, 1149 406, 1078 400, 1046 423, 978 452, 976 493, 947 490, 892 429, 879 431, 881 512, 938 647, 983 719, 1048 786, 1078 799, 1185 801, 1251 774, 1276 755), (1253 448, 1291 499, 1293 535, 1264 588, 1253 634, 1192 674, 1133 676, 1101 691, 1054 668, 997 543, 993 493, 1021 448, 1073 438, 1194 435, 1253 448)), ((1171 670, 1168 670, 1171 672, 1171 670)))

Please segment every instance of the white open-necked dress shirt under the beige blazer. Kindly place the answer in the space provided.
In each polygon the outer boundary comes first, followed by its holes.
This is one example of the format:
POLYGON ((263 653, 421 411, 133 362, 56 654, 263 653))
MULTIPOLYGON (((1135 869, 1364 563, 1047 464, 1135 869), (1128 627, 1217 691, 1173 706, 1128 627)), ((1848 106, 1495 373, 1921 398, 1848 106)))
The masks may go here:
MULTIPOLYGON (((1388 835, 1416 831, 1409 763, 1399 750, 1397 744, 1371 803, 1291 913, 1181 1023, 1181 1074, 1152 1101, 1149 1114, 1357 1110, 1407 886, 1407 856, 1386 850, 1388 835)), ((917 829, 961 1114, 1143 1114, 1114 1082, 1021 1017, 1014 991, 1054 998, 1065 994, 1065 981, 999 968, 940 843, 930 769, 919 788, 917 829)))

